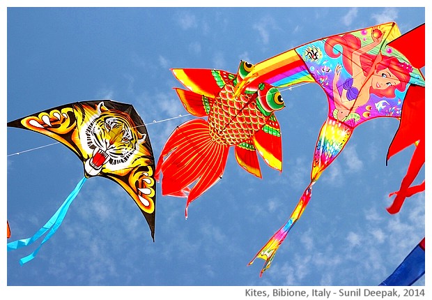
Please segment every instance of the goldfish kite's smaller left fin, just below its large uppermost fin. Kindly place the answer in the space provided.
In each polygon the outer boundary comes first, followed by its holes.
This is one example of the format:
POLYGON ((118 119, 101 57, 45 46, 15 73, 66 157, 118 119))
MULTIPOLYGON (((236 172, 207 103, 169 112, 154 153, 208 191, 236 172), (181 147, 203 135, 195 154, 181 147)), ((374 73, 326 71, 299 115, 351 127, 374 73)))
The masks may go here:
POLYGON ((215 101, 214 98, 208 98, 193 91, 176 88, 176 92, 185 109, 196 117, 208 116, 210 107, 215 101))

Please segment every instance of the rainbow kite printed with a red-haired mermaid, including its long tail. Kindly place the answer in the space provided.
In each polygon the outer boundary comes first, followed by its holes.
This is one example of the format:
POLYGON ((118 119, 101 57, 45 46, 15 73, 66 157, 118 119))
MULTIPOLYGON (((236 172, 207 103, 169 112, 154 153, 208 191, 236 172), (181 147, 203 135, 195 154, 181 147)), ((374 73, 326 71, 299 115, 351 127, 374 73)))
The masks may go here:
POLYGON ((377 117, 400 119, 408 87, 424 89, 420 70, 387 45, 399 36, 396 23, 390 22, 321 38, 257 63, 244 78, 246 84, 264 82, 277 88, 316 82, 328 100, 327 120, 314 151, 311 181, 291 217, 249 262, 251 265, 256 258, 265 260, 260 277, 302 216, 311 199, 312 186, 344 149, 354 128, 377 117))

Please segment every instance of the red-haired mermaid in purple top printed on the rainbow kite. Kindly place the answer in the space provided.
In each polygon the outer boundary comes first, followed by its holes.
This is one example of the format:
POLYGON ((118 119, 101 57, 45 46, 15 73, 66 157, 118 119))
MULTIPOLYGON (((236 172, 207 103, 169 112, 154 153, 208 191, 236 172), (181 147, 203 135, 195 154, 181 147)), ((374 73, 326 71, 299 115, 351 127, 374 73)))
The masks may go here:
POLYGON ((396 57, 387 57, 381 53, 376 55, 367 53, 381 43, 384 33, 379 29, 373 29, 371 31, 373 42, 364 46, 360 38, 351 33, 327 39, 324 49, 329 57, 337 58, 341 55, 341 52, 334 53, 335 45, 341 45, 344 52, 343 66, 338 63, 334 68, 332 82, 335 119, 358 121, 360 115, 355 113, 355 110, 365 105, 372 94, 380 98, 394 98, 396 89, 399 91, 406 89, 412 66, 401 63, 396 57), (339 78, 342 68, 345 68, 351 77, 341 84, 339 78), (339 91, 340 86, 343 87, 341 91, 339 91))

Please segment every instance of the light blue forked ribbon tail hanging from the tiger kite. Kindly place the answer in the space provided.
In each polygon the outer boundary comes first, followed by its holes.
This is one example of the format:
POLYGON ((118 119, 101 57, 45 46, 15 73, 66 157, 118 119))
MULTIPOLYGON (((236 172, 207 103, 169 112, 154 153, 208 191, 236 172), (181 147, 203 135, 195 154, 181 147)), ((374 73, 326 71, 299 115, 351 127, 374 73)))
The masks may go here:
POLYGON ((33 258, 36 257, 36 254, 38 254, 40 247, 42 247, 42 245, 45 243, 45 241, 51 239, 52 235, 56 233, 57 229, 59 229, 61 223, 63 222, 66 213, 68 212, 70 204, 72 204, 72 201, 75 199, 75 197, 77 197, 79 190, 81 190, 85 181, 86 177, 79 181, 75 189, 72 190, 72 192, 66 198, 65 202, 61 204, 61 207, 57 209, 56 213, 54 213, 54 215, 48 220, 48 222, 43 225, 43 227, 40 228, 40 230, 38 230, 38 232, 36 232, 33 237, 29 237, 27 239, 20 239, 17 241, 11 241, 10 243, 8 243, 8 251, 23 248, 25 246, 31 245, 34 241, 42 237, 43 234, 45 234, 45 232, 49 230, 47 236, 45 237, 45 239, 43 239, 42 243, 40 243, 38 248, 36 248, 36 250, 34 250, 33 253, 31 253, 30 255, 22 257, 22 259, 20 260, 21 265, 33 260, 33 258))

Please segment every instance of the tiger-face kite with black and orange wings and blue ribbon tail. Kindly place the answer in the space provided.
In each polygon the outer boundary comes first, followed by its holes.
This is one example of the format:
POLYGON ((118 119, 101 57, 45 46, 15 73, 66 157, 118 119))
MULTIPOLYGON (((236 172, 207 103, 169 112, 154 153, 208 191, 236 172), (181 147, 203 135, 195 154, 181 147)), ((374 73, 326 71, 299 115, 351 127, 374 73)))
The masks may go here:
POLYGON ((132 197, 155 234, 155 162, 150 138, 132 105, 111 100, 70 103, 10 121, 52 137, 72 150, 84 165, 84 177, 54 216, 33 237, 8 243, 8 251, 28 246, 48 232, 40 246, 23 257, 32 260, 61 225, 68 207, 86 179, 100 176, 118 183, 132 197))

